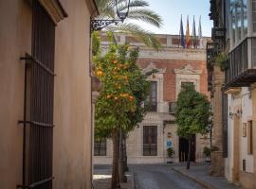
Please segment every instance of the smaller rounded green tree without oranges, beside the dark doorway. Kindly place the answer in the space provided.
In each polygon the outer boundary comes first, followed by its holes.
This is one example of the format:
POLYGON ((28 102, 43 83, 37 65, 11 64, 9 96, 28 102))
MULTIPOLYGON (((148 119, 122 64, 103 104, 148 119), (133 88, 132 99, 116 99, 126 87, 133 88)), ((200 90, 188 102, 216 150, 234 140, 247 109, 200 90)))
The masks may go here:
POLYGON ((175 118, 177 134, 189 141, 187 169, 190 169, 192 136, 208 132, 210 102, 206 95, 196 92, 191 85, 185 85, 178 94, 175 118))

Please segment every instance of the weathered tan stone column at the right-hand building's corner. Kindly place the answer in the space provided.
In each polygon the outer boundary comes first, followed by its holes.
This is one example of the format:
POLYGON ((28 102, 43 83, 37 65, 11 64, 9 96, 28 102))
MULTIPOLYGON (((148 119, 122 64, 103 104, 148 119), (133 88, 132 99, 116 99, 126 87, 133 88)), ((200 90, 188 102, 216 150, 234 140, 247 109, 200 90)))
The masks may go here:
POLYGON ((222 86, 224 83, 224 72, 219 66, 214 66, 213 71, 213 127, 212 127, 212 147, 210 175, 224 176, 223 159, 223 124, 222 124, 222 86))

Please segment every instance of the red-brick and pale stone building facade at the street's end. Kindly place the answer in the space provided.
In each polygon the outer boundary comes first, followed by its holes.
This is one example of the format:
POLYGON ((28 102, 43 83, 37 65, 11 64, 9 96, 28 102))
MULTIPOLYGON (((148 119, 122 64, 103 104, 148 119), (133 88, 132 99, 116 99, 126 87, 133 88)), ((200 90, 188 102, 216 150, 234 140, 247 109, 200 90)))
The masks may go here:
MULTIPOLYGON (((149 94, 154 107, 147 112, 139 126, 129 133, 127 138, 128 163, 166 163, 167 148, 172 146, 175 154, 172 161, 186 160, 188 144, 176 134, 174 105, 182 84, 192 83, 195 90, 208 95, 205 44, 198 48, 181 48, 179 36, 156 35, 163 48, 159 51, 144 46, 137 39, 123 34, 116 34, 118 43, 139 46, 138 66, 143 72, 156 69, 158 72, 148 80, 152 81, 149 94)), ((102 34, 102 47, 107 48, 105 34, 102 34)), ((205 160, 203 147, 210 145, 209 136, 196 135, 193 143, 193 160, 205 160)), ((112 163, 112 141, 94 147, 94 163, 112 163)))

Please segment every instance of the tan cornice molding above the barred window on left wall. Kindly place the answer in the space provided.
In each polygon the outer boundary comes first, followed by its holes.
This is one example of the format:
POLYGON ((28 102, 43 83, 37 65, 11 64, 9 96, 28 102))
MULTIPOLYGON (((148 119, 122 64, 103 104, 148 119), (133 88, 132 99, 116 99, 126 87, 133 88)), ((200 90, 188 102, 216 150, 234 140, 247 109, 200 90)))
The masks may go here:
POLYGON ((67 13, 59 0, 39 0, 39 2, 56 25, 67 17, 67 13))

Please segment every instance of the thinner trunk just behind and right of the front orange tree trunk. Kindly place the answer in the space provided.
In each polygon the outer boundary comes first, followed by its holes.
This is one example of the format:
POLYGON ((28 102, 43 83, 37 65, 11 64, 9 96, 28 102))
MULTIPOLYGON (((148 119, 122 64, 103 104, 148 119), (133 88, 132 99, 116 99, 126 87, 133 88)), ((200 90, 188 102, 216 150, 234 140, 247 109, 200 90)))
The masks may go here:
POLYGON ((124 154, 123 154, 123 133, 119 132, 119 180, 120 182, 127 182, 124 171, 124 154))

